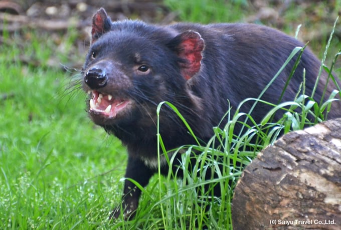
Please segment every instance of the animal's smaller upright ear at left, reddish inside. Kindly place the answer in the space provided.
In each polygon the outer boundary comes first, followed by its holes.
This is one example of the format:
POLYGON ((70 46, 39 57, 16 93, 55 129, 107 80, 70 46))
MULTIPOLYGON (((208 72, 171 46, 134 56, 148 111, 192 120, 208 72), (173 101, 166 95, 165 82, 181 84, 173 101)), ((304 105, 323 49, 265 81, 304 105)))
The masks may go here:
POLYGON ((111 19, 104 8, 100 8, 92 17, 91 43, 111 28, 111 19))

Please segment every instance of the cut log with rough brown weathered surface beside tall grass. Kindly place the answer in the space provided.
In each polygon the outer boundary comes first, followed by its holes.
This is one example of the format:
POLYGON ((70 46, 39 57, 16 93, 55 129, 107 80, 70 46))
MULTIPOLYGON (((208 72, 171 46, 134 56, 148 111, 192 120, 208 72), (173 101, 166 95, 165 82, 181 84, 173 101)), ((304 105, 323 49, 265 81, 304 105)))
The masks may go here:
POLYGON ((341 229, 341 119, 287 133, 244 170, 234 229, 341 229))

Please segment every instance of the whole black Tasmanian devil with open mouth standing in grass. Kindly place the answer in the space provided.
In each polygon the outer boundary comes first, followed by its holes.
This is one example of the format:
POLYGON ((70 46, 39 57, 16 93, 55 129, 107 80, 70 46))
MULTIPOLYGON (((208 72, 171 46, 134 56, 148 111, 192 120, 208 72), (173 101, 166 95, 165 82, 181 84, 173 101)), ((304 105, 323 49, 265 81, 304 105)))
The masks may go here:
MULTIPOLYGON (((256 24, 112 22, 103 8, 93 16, 91 34, 82 70, 83 87, 89 93, 88 112, 96 124, 127 146, 125 177, 141 186, 147 185, 158 167, 156 107, 161 101, 173 103, 197 137, 208 141, 228 109, 233 113, 243 99, 257 98, 292 50, 303 46, 278 30, 256 24)), ((278 103, 297 56, 263 94, 263 100, 278 103)), ((310 95, 319 66, 320 61, 305 48, 282 101, 294 99, 304 75, 305 94, 310 95)), ((322 72, 314 93, 318 102, 327 76, 322 72)), ((332 83, 327 84, 326 97, 333 88, 332 83)), ((251 103, 246 103, 243 110, 250 107, 251 103)), ((260 122, 269 108, 256 106, 253 119, 260 122)), ((159 133, 165 148, 195 143, 178 115, 167 106, 162 109, 159 133)), ((340 114, 335 104, 328 117, 340 114)), ((160 167, 161 173, 168 172, 164 157, 160 167)), ((123 209, 115 209, 112 216, 134 216, 140 194, 141 190, 126 180, 123 209)))

